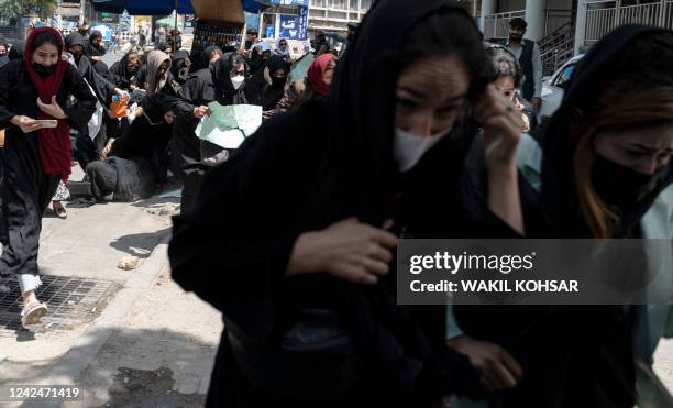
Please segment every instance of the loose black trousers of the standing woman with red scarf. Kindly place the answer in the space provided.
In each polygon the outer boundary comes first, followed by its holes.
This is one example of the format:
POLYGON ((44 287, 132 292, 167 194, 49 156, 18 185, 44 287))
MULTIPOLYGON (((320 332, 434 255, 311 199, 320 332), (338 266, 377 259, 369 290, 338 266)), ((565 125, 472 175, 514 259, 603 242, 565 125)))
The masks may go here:
POLYGON ((0 273, 40 273, 37 253, 42 214, 56 192, 60 177, 43 172, 37 134, 5 131, 0 222, 0 273))

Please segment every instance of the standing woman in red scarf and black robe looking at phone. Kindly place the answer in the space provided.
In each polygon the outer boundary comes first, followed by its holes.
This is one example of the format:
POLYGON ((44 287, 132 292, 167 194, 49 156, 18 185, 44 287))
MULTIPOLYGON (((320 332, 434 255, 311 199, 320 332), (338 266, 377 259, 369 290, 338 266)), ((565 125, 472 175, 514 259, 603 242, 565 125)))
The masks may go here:
POLYGON ((62 59, 63 47, 56 30, 36 29, 26 41, 24 58, 0 70, 0 126, 7 130, 0 273, 19 277, 24 326, 37 323, 46 312, 35 297, 41 284, 40 231, 58 181, 70 174, 69 129, 86 128, 96 110, 89 86, 62 59), (62 108, 70 97, 77 102, 62 108))

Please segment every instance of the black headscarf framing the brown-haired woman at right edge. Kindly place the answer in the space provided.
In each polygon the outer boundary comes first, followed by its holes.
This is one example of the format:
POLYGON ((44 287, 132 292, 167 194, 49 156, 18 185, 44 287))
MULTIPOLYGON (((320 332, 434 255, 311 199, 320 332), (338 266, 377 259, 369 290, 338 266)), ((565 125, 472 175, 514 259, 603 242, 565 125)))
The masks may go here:
MULTIPOLYGON (((567 194, 573 190, 574 183, 571 176, 573 174, 573 145, 570 137, 573 115, 576 109, 584 110, 589 103, 595 102, 600 88, 605 86, 605 78, 614 78, 618 74, 615 73, 615 63, 633 41, 642 35, 658 32, 670 33, 668 30, 652 26, 624 25, 596 43, 573 73, 561 107, 536 132, 536 139, 543 151, 541 207, 551 227, 560 235, 576 236, 578 231, 591 233, 588 225, 576 219, 577 212, 570 208, 567 199, 567 194)), ((640 201, 638 208, 622 214, 620 231, 617 234, 632 229, 640 222, 657 195, 673 183, 670 168, 668 174, 668 179, 661 180, 657 190, 648 195, 649 199, 640 201)))

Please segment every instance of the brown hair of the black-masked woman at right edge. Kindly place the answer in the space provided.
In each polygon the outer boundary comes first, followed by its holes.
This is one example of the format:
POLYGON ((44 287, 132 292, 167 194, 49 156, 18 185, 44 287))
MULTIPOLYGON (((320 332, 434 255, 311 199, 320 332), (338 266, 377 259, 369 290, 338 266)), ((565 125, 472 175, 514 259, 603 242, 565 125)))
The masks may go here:
POLYGON ((575 112, 571 124, 574 197, 595 238, 611 236, 621 214, 596 192, 592 178, 594 136, 603 131, 673 123, 673 35, 638 38, 616 62, 614 73, 594 103, 575 112))

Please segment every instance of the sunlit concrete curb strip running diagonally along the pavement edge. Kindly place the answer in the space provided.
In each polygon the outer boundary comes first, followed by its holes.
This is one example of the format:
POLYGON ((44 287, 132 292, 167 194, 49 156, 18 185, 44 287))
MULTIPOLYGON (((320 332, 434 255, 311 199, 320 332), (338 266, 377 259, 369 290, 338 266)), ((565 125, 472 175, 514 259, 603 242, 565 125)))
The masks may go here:
MULTIPOLYGON (((148 289, 158 277, 163 267, 168 264, 168 242, 170 234, 166 233, 154 247, 150 256, 135 273, 126 279, 123 287, 114 295, 110 304, 93 323, 75 342, 70 350, 57 360, 52 371, 38 385, 77 385, 81 374, 91 364, 102 346, 107 343, 117 323, 123 319, 141 295, 148 289)), ((84 390, 86 393, 86 389, 84 390)), ((71 406, 74 403, 66 403, 71 406)), ((40 403, 40 407, 58 407, 60 403, 40 403)), ((25 403, 22 407, 33 407, 25 403)))

